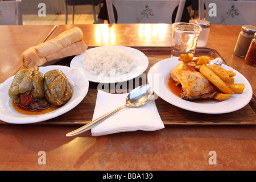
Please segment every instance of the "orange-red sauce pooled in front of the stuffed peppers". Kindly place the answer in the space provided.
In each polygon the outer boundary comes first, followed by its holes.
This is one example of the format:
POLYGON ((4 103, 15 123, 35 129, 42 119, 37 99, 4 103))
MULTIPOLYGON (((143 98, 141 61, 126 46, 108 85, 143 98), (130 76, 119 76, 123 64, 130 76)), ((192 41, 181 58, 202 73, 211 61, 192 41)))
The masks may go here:
MULTIPOLYGON (((60 107, 60 106, 59 106, 60 107)), ((14 101, 13 101, 13 108, 20 114, 26 114, 26 115, 39 115, 39 114, 46 114, 46 113, 49 113, 53 110, 56 110, 58 109, 59 107, 55 107, 55 106, 49 106, 47 108, 44 108, 44 109, 36 109, 36 110, 30 110, 29 107, 22 107, 18 104, 16 104, 14 101)))

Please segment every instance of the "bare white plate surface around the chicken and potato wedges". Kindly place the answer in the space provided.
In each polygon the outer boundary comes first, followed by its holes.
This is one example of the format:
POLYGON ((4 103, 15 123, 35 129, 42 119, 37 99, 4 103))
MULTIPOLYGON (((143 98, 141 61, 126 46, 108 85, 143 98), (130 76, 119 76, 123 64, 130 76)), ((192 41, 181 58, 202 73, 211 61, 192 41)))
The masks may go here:
POLYGON ((235 83, 245 84, 245 89, 243 90, 242 94, 233 94, 228 100, 221 102, 213 101, 197 103, 183 100, 172 93, 167 85, 167 80, 171 76, 170 72, 179 63, 181 63, 181 61, 178 61, 176 57, 159 61, 153 65, 152 68, 150 68, 147 75, 148 82, 154 92, 163 100, 172 105, 197 113, 221 114, 230 113, 232 111, 241 109, 250 102, 251 97, 253 96, 253 89, 251 88, 249 81, 247 81, 246 78, 241 75, 241 73, 228 67, 227 65, 222 64, 222 68, 236 72, 236 76, 234 76, 235 83))

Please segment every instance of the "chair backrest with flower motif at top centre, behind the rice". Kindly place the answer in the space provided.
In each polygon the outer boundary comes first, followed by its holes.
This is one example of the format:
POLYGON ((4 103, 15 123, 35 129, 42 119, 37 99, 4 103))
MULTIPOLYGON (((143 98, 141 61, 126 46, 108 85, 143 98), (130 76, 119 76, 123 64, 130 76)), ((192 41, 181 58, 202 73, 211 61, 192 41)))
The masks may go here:
POLYGON ((174 23, 172 13, 179 5, 175 22, 180 22, 185 0, 106 0, 106 4, 109 23, 174 23))

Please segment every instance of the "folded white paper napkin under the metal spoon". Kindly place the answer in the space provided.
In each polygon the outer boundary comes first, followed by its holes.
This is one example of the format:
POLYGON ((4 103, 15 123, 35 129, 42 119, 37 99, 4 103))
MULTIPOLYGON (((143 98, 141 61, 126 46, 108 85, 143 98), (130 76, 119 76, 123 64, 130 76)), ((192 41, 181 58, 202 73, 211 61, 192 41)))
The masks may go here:
MULTIPOLYGON (((128 93, 110 94, 98 90, 93 120, 119 106, 125 105, 127 95, 128 93)), ((156 108, 155 100, 150 100, 141 107, 125 107, 117 111, 117 113, 95 126, 91 132, 92 136, 100 136, 123 131, 155 131, 163 128, 164 125, 156 108)))

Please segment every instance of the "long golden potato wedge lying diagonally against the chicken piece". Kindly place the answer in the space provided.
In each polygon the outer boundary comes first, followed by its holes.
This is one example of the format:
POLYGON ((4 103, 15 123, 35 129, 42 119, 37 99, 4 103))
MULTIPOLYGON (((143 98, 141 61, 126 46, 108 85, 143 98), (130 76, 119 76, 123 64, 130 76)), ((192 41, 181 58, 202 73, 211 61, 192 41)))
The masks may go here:
POLYGON ((224 81, 221 80, 210 68, 206 65, 202 65, 199 69, 200 73, 202 73, 213 85, 215 85, 221 92, 226 94, 234 94, 232 90, 228 88, 224 81))

